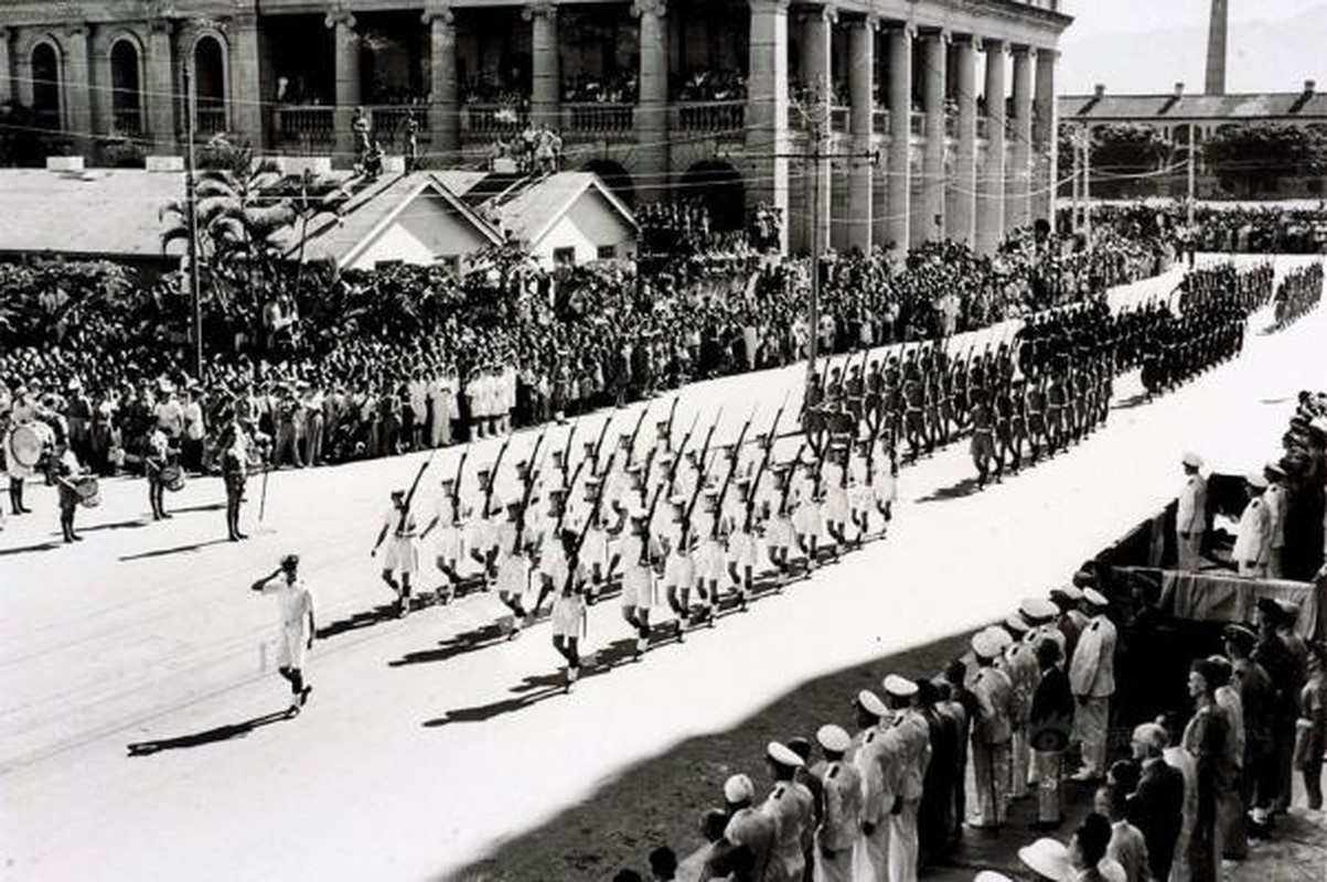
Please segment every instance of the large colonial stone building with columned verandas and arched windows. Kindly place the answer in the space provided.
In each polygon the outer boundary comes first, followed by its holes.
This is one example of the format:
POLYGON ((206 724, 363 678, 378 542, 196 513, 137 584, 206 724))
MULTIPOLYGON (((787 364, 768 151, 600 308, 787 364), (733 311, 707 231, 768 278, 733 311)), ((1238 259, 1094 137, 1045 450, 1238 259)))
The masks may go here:
POLYGON ((794 249, 991 249, 1050 212, 1068 24, 1059 0, 8 0, 0 103, 94 159, 178 150, 190 103, 199 137, 340 166, 360 106, 387 150, 413 117, 431 167, 547 125, 628 204, 766 203, 794 249))

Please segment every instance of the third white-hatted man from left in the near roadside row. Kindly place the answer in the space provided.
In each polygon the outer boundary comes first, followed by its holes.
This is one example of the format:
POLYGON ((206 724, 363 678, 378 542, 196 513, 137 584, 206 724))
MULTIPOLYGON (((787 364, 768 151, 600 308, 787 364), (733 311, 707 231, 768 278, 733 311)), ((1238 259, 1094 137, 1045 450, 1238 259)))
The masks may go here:
POLYGON ((852 851, 861 836, 863 781, 844 760, 852 739, 837 725, 821 725, 816 741, 824 753, 811 775, 820 783, 816 816, 815 882, 852 882, 852 851))

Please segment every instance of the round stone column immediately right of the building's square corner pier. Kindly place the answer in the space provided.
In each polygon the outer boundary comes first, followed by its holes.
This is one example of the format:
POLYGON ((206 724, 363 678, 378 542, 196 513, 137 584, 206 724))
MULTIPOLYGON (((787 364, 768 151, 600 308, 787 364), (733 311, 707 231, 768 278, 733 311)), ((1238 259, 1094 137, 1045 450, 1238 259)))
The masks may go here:
POLYGON ((833 106, 833 23, 832 7, 803 7, 802 17, 802 77, 807 93, 802 95, 802 113, 805 114, 807 166, 802 176, 804 196, 802 247, 815 251, 829 247, 831 178, 828 158, 817 155, 829 153, 829 113, 833 106))

